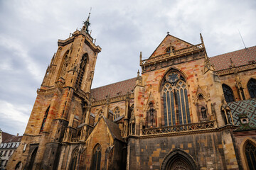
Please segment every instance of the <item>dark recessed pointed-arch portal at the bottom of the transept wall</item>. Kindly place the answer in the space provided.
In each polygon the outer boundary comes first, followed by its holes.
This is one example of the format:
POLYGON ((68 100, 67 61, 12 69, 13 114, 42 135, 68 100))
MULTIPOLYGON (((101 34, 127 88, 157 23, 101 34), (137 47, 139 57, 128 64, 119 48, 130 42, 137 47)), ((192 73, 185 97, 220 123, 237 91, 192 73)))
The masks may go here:
POLYGON ((161 164, 161 170, 194 170, 196 163, 190 154, 181 149, 174 149, 169 152, 161 164))

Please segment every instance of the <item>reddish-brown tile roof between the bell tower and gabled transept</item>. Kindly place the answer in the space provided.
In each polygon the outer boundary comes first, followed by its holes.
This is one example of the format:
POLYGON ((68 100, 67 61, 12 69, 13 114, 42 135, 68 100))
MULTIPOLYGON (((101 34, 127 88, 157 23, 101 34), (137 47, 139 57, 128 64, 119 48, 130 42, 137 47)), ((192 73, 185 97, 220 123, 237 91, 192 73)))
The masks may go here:
POLYGON ((116 97, 127 94, 127 91, 131 93, 134 90, 136 79, 137 77, 92 89, 92 98, 95 98, 96 101, 100 101, 105 99, 108 95, 110 95, 110 97, 116 97))

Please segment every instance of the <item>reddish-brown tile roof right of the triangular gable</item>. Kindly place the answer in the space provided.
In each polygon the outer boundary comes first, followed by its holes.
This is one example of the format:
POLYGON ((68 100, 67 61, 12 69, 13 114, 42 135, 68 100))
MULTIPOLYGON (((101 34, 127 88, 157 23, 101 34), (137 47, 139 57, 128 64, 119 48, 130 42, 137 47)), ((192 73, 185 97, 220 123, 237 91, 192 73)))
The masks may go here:
POLYGON ((235 64, 235 67, 249 64, 251 61, 256 61, 256 46, 210 57, 210 62, 214 65, 215 70, 218 71, 230 68, 230 58, 235 64))

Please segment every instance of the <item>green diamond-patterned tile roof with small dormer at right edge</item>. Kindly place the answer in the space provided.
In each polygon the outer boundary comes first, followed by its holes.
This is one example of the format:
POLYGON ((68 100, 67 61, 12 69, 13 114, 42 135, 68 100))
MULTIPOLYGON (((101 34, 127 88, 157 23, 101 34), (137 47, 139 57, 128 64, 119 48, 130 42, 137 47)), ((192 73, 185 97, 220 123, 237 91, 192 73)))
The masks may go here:
POLYGON ((235 125, 240 125, 238 115, 246 114, 249 118, 249 125, 252 128, 256 128, 256 99, 250 99, 247 101, 233 101, 228 103, 233 116, 235 125))

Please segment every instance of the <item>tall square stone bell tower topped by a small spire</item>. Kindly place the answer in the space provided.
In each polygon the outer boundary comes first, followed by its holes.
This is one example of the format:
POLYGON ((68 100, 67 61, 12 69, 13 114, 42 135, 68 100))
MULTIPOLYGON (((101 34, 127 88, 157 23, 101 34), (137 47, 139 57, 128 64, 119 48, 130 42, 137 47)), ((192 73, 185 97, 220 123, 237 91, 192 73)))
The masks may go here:
POLYGON ((40 89, 37 90, 21 145, 8 169, 57 169, 62 146, 88 134, 90 88, 100 46, 90 35, 90 13, 81 30, 58 40, 40 89), (82 132, 81 132, 82 130, 82 132))

